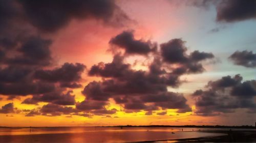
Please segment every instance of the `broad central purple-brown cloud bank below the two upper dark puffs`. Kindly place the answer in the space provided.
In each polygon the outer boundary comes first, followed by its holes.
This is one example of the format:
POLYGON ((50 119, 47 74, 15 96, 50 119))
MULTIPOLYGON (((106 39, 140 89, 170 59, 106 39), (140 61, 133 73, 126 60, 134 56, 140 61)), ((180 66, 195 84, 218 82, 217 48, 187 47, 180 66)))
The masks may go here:
POLYGON ((159 107, 177 108, 180 112, 191 111, 182 94, 167 92, 168 85, 176 87, 179 84, 178 76, 174 78, 174 74, 166 73, 158 62, 154 60, 149 65, 149 71, 136 71, 131 69, 131 65, 124 64, 120 55, 115 55, 112 63, 92 66, 90 75, 110 79, 86 85, 82 93, 87 97, 87 104, 89 101, 105 104, 113 98, 117 104, 123 104, 127 112, 157 110, 159 107), (119 69, 119 74, 116 69, 119 69))

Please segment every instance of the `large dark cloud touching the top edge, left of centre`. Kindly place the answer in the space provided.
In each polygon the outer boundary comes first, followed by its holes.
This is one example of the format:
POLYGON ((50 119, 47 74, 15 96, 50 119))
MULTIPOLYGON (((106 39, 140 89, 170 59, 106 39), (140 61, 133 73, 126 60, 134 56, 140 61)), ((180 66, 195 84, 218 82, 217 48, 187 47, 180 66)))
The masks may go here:
POLYGON ((26 17, 39 30, 55 32, 72 19, 101 19, 106 23, 122 25, 129 17, 115 4, 115 1, 19 1, 26 17), (118 20, 119 19, 119 20, 118 20))

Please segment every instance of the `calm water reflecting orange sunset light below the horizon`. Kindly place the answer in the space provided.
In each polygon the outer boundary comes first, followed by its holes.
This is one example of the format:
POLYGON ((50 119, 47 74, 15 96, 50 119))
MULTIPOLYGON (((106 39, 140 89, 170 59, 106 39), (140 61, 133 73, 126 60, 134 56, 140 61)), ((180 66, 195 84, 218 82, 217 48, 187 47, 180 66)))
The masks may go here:
POLYGON ((219 136, 207 128, 52 127, 0 128, 0 142, 130 142, 219 136), (194 131, 193 131, 194 130, 194 131), (174 132, 175 134, 172 134, 174 132))

